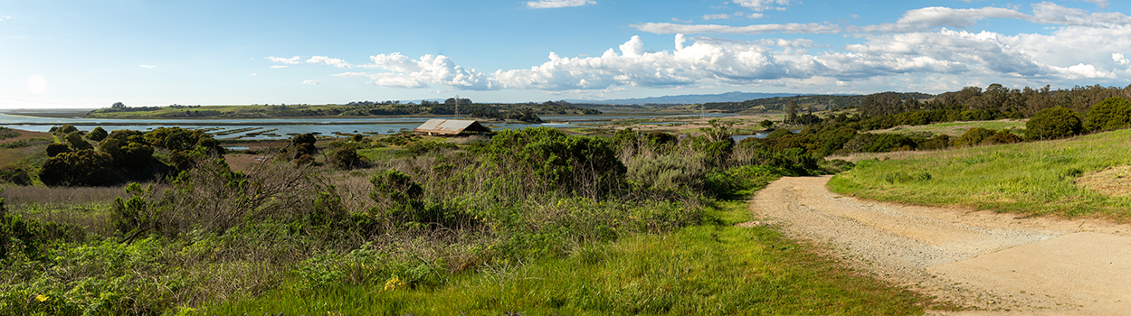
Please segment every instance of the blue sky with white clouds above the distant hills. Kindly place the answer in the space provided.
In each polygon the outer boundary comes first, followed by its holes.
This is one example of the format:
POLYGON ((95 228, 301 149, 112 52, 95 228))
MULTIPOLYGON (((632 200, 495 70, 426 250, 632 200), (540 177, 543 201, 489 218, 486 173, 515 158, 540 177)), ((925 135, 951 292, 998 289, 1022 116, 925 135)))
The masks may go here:
POLYGON ((0 108, 1124 87, 1128 2, 0 0, 0 108))

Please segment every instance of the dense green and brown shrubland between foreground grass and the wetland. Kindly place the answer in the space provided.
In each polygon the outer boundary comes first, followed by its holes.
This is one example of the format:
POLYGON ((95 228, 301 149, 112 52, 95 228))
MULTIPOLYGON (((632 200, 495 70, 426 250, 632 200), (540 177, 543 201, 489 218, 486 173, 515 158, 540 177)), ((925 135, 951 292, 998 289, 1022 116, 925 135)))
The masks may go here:
MULTIPOLYGON (((407 134, 317 147, 299 135, 242 172, 231 170, 207 134, 115 131, 93 149, 67 143, 50 158, 89 175, 60 183, 158 164, 169 176, 129 184, 126 198, 94 207, 101 222, 6 212, 0 310, 153 315, 280 287, 442 288, 461 273, 696 225, 709 220, 714 196, 739 194, 756 178, 814 172, 808 158, 735 144, 725 125, 707 131, 681 139, 524 129, 464 147, 407 134), (405 155, 359 153, 392 143, 405 155), (167 156, 155 158, 161 152, 167 156), (101 159, 104 169, 78 169, 94 163, 67 160, 75 157, 101 159)), ((55 168, 45 166, 41 178, 55 168)))

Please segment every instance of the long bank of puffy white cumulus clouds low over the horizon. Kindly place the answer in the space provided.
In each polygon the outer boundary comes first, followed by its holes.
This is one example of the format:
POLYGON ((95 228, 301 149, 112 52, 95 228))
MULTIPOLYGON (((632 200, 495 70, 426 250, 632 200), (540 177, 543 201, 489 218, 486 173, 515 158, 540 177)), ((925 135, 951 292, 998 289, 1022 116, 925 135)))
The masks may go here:
POLYGON ((527 89, 564 94, 599 94, 624 87, 756 84, 797 89, 849 89, 857 85, 898 82, 905 88, 939 90, 1001 82, 1002 79, 1013 85, 1035 86, 1055 80, 1113 79, 1117 73, 1128 73, 1125 69, 1131 67, 1131 60, 1119 53, 1131 51, 1131 26, 1067 26, 1047 35, 1012 36, 941 28, 860 38, 858 43, 828 47, 808 38, 735 41, 675 34, 670 42, 672 49, 654 51, 640 36, 632 36, 599 55, 571 58, 551 52, 547 61, 529 69, 494 72, 459 65, 444 55, 413 59, 389 53, 370 56, 370 63, 351 64, 369 69, 368 72, 334 76, 365 78, 385 87, 440 85, 470 90, 527 89), (809 52, 814 49, 820 51, 809 52))

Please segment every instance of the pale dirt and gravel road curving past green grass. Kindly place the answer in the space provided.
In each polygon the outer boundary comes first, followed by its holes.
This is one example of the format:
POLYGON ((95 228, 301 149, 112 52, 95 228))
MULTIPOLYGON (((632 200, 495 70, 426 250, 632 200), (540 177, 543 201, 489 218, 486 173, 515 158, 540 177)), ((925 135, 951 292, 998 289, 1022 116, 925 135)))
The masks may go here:
POLYGON ((829 192, 829 178, 771 183, 754 196, 754 217, 974 308, 929 315, 1131 313, 1131 226, 864 201, 829 192))

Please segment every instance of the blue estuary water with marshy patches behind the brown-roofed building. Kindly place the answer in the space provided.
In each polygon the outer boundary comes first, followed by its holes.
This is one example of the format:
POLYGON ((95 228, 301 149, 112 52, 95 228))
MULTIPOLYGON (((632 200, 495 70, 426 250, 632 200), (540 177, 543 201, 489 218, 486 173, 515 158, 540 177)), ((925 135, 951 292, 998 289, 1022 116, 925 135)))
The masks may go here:
MULTIPOLYGON (((543 116, 547 123, 542 124, 516 124, 516 123, 491 123, 485 125, 492 130, 525 129, 537 126, 576 126, 577 124, 607 124, 611 120, 629 118, 676 118, 676 117, 724 117, 735 114, 679 114, 668 113, 633 113, 615 115, 573 115, 573 116, 543 116)), ((413 130, 421 123, 430 118, 455 118, 455 117, 349 117, 349 118, 230 118, 230 120, 207 120, 207 118, 83 118, 83 117, 38 117, 0 113, 0 126, 46 132, 52 126, 75 125, 81 131, 90 131, 96 126, 102 126, 106 131, 137 130, 149 131, 157 128, 179 126, 183 129, 206 130, 217 139, 244 139, 244 140, 269 140, 286 139, 295 134, 317 133, 321 135, 333 135, 335 133, 365 133, 365 134, 391 134, 404 130, 413 130)))

